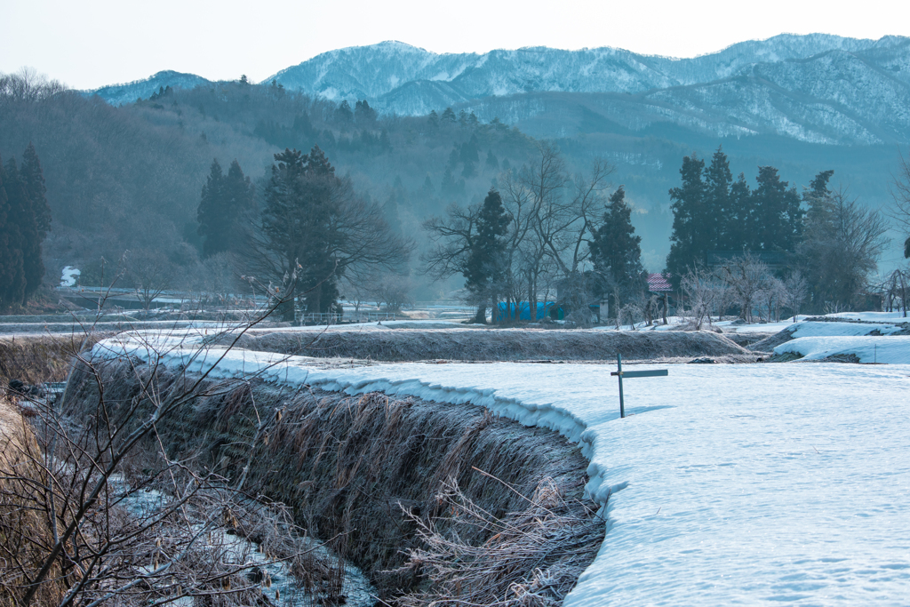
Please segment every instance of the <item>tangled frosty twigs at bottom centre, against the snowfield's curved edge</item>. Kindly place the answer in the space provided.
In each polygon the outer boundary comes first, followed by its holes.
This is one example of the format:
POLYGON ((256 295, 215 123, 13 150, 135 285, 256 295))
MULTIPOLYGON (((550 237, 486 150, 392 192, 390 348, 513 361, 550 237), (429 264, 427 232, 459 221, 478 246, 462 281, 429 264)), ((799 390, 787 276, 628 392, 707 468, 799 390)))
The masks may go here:
POLYGON ((410 514, 425 547, 410 551, 408 567, 426 572, 433 584, 402 597, 403 607, 560 605, 601 545, 602 521, 583 502, 567 500, 550 478, 520 511, 501 519, 467 498, 455 481, 443 484, 437 500, 444 525, 410 514), (477 531, 489 539, 462 539, 477 531))

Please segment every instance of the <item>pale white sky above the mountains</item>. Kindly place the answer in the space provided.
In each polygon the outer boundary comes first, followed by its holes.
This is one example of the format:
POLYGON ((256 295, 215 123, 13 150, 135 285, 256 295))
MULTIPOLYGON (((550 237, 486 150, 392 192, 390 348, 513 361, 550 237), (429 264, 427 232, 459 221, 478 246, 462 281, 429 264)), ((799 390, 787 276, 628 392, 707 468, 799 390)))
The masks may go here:
POLYGON ((33 67, 76 88, 163 69, 209 79, 399 40, 436 53, 615 46, 697 56, 784 32, 910 35, 910 0, 0 0, 0 72, 33 67))

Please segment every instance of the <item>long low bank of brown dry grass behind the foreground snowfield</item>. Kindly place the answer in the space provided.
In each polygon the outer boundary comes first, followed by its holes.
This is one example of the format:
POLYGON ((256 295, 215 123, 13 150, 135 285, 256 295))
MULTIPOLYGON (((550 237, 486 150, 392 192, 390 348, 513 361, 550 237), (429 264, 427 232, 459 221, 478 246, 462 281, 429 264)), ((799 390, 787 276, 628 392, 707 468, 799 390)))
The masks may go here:
MULTIPOLYGON (((224 339, 222 339, 224 340, 224 339)), ((415 330, 275 331, 240 348, 310 357, 405 360, 604 360, 747 354, 711 331, 415 330)))

